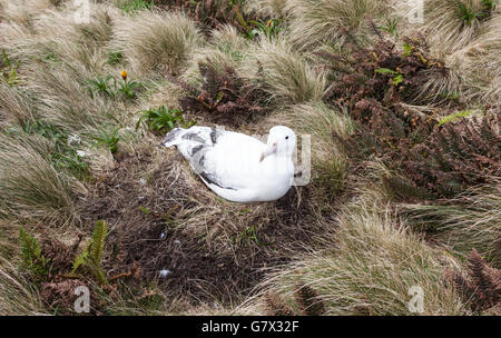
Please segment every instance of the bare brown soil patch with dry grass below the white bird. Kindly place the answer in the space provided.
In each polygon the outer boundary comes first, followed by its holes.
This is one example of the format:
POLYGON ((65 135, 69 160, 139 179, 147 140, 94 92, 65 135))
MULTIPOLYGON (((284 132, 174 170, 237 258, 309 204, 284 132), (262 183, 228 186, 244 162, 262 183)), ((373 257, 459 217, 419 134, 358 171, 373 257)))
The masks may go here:
POLYGON ((193 302, 228 302, 308 247, 318 232, 308 193, 301 187, 273 203, 227 203, 167 151, 160 162, 151 155, 117 162, 84 215, 89 231, 99 219, 110 229, 108 277, 136 275, 131 282, 155 282, 193 302))

